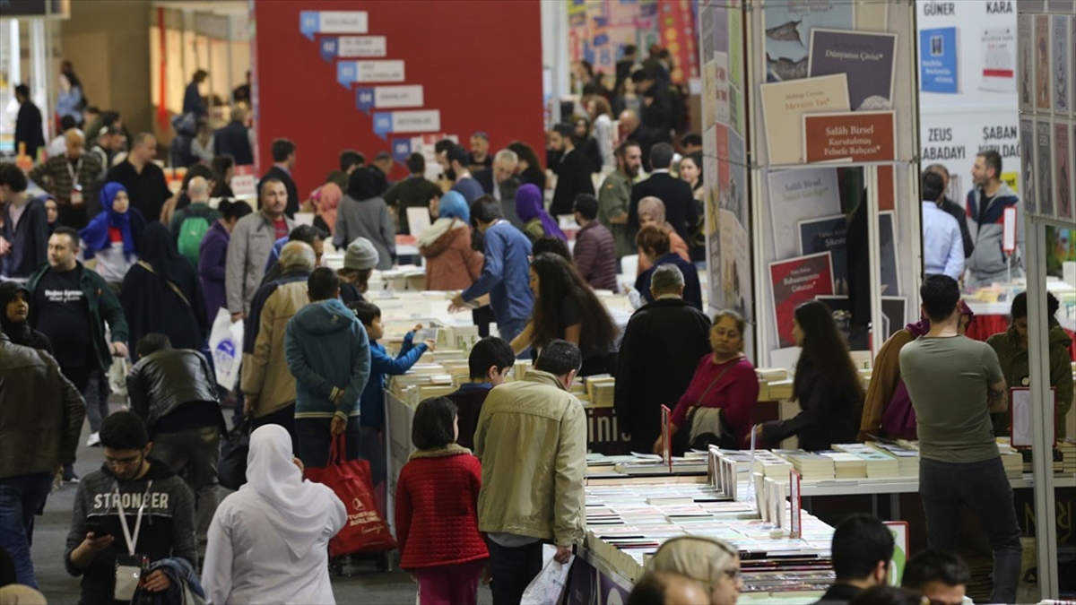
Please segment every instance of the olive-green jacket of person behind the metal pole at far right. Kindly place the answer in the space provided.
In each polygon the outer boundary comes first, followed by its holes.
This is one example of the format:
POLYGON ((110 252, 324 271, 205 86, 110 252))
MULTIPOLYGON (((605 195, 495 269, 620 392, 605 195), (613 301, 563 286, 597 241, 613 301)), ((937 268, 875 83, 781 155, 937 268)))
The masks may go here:
MULTIPOLYGON (((1065 437, 1065 414, 1073 407, 1073 374, 1068 348, 1072 338, 1057 320, 1050 319, 1048 333, 1050 350, 1050 386, 1056 390, 1058 421, 1056 423, 1058 439, 1065 437)), ((987 344, 997 353, 997 362, 1002 366, 1005 383, 1013 386, 1028 386, 1031 370, 1029 369, 1028 351, 1020 349, 1020 336, 1015 327, 997 333, 987 339, 987 344)), ((994 425, 995 437, 1007 437, 1009 434, 1009 412, 990 414, 994 425)))

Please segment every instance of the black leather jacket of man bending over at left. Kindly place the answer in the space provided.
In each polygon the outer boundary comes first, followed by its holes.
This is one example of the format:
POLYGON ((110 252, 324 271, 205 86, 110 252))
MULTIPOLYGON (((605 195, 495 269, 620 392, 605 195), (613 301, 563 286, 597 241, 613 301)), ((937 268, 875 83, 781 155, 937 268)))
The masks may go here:
POLYGON ((158 420, 184 404, 216 402, 216 378, 198 351, 156 351, 139 360, 127 375, 127 396, 131 411, 153 433, 158 420))

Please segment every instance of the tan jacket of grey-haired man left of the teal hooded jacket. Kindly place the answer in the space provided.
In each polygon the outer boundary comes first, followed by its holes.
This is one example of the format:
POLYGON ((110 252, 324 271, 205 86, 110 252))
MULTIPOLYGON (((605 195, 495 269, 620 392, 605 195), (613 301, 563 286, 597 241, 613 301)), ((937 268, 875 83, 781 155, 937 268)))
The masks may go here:
MULTIPOLYGON (((263 259, 264 262, 264 259, 263 259)), ((243 351, 242 391, 257 399, 254 417, 261 418, 295 403, 295 377, 284 358, 287 322, 306 307, 307 280, 273 282, 263 287, 273 289, 260 312, 252 316, 257 322, 253 347, 243 351)), ((247 330, 253 329, 250 323, 247 330)))

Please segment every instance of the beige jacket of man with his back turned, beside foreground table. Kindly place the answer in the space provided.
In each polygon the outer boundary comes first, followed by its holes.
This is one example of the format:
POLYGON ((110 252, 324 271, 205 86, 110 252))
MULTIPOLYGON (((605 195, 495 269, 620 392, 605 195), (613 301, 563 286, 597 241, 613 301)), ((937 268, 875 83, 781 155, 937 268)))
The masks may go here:
POLYGON ((490 391, 475 431, 479 530, 582 544, 586 414, 552 374, 490 391))

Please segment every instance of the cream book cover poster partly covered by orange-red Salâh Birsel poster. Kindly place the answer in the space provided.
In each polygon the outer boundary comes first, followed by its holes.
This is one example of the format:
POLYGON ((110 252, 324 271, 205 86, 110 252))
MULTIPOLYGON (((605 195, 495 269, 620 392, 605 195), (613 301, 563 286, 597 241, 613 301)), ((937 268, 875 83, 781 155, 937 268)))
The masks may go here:
POLYGON ((803 164, 803 114, 849 111, 844 73, 762 84, 762 121, 769 164, 803 164))

